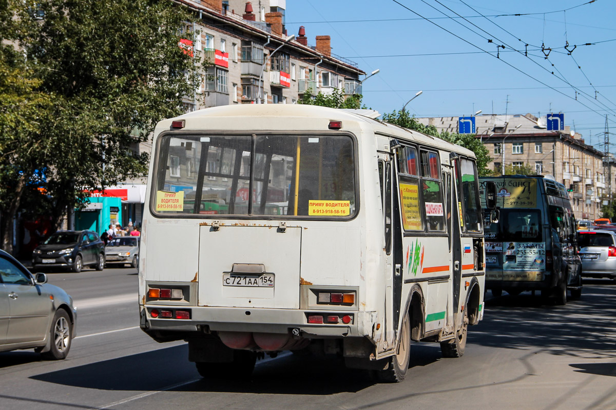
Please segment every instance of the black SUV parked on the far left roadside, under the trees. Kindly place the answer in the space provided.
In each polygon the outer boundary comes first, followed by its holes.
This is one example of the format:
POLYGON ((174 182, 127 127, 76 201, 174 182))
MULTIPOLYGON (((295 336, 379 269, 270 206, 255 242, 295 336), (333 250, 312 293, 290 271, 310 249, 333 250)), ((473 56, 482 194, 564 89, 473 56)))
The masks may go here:
POLYGON ((58 231, 32 253, 32 267, 68 267, 81 272, 84 266, 105 267, 105 242, 92 231, 58 231))

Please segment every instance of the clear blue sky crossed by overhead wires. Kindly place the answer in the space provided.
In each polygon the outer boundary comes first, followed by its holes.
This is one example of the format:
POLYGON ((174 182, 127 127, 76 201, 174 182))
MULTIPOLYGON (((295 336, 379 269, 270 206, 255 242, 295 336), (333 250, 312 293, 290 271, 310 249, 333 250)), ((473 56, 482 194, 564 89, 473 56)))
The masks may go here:
POLYGON ((417 117, 564 112, 593 145, 608 114, 616 152, 616 1, 588 1, 287 0, 286 28, 306 26, 312 45, 329 35, 333 53, 380 69, 363 83, 365 104, 379 112, 423 90, 407 105, 417 117), (447 17, 456 13, 468 21, 447 17))

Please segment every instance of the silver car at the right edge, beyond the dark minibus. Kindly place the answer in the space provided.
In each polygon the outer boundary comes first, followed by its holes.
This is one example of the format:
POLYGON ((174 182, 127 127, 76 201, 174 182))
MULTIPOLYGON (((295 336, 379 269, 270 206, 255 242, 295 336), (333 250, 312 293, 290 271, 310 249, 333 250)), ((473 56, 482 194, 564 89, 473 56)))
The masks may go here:
POLYGON ((596 230, 579 231, 578 245, 582 276, 616 279, 616 233, 596 230))

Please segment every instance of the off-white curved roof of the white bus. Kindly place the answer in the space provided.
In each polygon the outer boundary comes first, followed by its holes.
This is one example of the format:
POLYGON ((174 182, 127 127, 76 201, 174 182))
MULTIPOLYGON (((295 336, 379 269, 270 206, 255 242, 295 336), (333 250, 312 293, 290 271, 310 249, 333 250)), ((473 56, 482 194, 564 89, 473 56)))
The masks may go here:
POLYGON ((181 116, 162 120, 156 125, 155 137, 164 130, 169 130, 171 121, 185 120, 184 130, 208 130, 216 129, 216 121, 214 119, 226 119, 236 117, 233 121, 235 130, 284 130, 280 119, 287 117, 296 120, 305 119, 301 124, 302 130, 328 130, 330 120, 342 121, 342 130, 345 128, 345 122, 354 122, 357 127, 370 127, 375 134, 382 134, 400 138, 402 140, 423 143, 436 148, 454 151, 465 156, 475 157, 474 152, 463 148, 459 145, 449 143, 440 138, 426 135, 421 132, 402 128, 397 125, 389 124, 380 120, 373 119, 375 116, 373 110, 346 110, 328 108, 314 105, 304 104, 238 104, 225 105, 211 108, 200 109, 197 111, 188 112, 181 116), (365 111, 365 115, 360 112, 365 111), (245 119, 250 118, 248 122, 245 119), (244 120, 243 120, 244 119, 244 120))

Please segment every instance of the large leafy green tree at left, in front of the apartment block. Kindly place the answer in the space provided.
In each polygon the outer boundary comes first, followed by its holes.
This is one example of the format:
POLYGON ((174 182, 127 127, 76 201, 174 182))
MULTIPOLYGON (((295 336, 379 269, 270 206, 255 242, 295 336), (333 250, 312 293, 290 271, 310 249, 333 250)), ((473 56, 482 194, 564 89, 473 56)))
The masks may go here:
POLYGON ((12 58, 0 65, 0 95, 8 96, 0 115, 19 119, 0 131, 0 187, 13 201, 3 207, 2 246, 10 249, 20 186, 37 173, 56 227, 92 189, 144 175, 148 156, 136 148, 158 120, 184 111, 199 61, 179 47, 192 39, 192 17, 168 0, 2 2, 2 57, 12 58))

